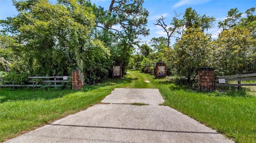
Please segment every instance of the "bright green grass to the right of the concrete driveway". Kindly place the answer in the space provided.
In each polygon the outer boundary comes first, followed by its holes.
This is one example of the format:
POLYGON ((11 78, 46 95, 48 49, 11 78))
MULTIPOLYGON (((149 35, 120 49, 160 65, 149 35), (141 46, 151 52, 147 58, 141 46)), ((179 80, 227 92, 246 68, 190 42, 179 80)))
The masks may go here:
POLYGON ((235 142, 256 143, 255 91, 246 88, 242 88, 242 91, 193 91, 166 78, 153 79, 148 74, 130 72, 148 79, 150 82, 147 87, 158 88, 165 100, 164 106, 170 106, 200 121, 235 142))

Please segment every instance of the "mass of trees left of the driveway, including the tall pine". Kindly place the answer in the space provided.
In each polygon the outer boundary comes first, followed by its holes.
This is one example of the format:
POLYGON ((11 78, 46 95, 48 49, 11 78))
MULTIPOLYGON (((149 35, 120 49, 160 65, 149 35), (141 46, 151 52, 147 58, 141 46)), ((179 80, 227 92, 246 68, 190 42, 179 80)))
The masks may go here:
POLYGON ((137 36, 149 31, 143 0, 112 0, 108 10, 88 0, 13 4, 19 14, 1 20, 1 68, 9 72, 66 75, 78 68, 86 83, 102 80, 113 63, 128 66, 137 36))

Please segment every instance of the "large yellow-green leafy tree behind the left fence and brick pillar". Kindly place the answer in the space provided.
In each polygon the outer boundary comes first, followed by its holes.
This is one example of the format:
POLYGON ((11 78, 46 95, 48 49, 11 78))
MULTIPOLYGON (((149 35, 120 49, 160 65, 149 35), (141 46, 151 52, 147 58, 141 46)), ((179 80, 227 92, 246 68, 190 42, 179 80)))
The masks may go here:
POLYGON ((16 40, 24 46, 16 50, 26 54, 23 57, 29 58, 34 74, 52 74, 60 72, 57 69, 68 71, 74 67, 81 72, 89 69, 100 75, 108 73, 104 61, 109 50, 91 36, 96 26, 92 8, 77 0, 59 0, 56 4, 48 0, 14 1, 14 5, 20 14, 4 24, 17 31, 16 40))

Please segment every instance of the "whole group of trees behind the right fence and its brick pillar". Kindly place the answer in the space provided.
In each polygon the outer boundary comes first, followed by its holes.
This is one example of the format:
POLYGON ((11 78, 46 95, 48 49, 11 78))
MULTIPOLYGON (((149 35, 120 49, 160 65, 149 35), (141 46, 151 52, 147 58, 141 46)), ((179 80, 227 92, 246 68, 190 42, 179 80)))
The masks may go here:
MULTIPOLYGON (((173 48, 165 48, 163 37, 152 39, 152 47, 158 49, 166 63, 167 73, 174 76, 187 76, 197 73, 202 67, 213 67, 217 75, 231 75, 256 71, 256 16, 255 8, 246 11, 242 18, 238 9, 231 9, 228 17, 219 22, 223 31, 218 39, 213 40, 210 34, 203 33, 213 26, 214 17, 200 16, 192 8, 187 8, 182 22, 186 30, 182 37, 176 39, 173 48), (164 48, 159 48, 160 45, 164 48), (162 50, 163 49, 163 50, 162 50)), ((176 18, 176 16, 175 16, 176 18)))

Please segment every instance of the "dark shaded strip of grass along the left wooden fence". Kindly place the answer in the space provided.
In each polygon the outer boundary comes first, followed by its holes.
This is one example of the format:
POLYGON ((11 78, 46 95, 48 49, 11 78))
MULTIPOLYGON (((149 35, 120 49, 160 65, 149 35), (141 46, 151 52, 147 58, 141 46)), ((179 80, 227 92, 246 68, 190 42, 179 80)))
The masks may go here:
POLYGON ((118 84, 128 84, 131 83, 134 79, 130 77, 124 77, 119 79, 108 79, 104 82, 100 82, 98 84, 84 86, 81 90, 55 90, 54 88, 48 88, 47 90, 42 90, 40 88, 36 88, 33 90, 32 88, 0 88, 0 103, 4 102, 14 102, 20 100, 52 100, 55 98, 62 98, 67 94, 76 93, 76 92, 88 92, 92 90, 97 90, 101 87, 106 86, 115 86, 118 84))

